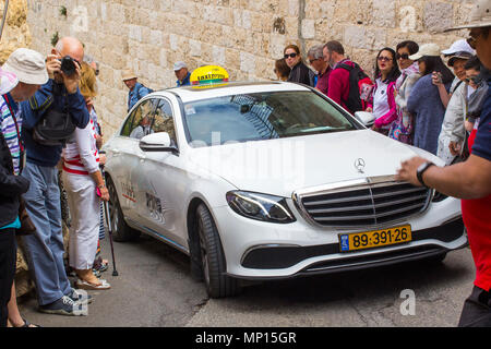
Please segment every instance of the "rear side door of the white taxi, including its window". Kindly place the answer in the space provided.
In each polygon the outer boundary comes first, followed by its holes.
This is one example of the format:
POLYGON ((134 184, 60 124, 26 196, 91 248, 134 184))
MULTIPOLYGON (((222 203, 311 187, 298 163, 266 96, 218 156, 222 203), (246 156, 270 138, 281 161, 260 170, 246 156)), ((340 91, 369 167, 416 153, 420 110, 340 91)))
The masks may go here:
POLYGON ((142 160, 145 153, 140 149, 140 140, 152 133, 151 122, 155 105, 145 99, 131 112, 120 135, 112 141, 111 161, 115 164, 116 185, 121 209, 127 218, 141 220, 145 198, 139 195, 137 184, 141 182, 142 160))

